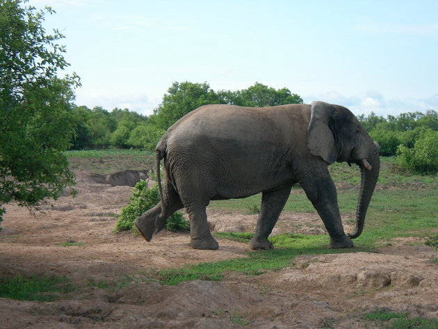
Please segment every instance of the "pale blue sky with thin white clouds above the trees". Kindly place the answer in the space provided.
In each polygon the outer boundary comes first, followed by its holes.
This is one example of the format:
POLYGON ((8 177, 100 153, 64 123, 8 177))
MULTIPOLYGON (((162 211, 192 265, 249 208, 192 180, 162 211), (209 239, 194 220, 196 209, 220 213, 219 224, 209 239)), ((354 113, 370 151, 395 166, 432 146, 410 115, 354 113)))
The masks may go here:
MULTIPOLYGON (((150 115, 174 81, 259 82, 355 114, 438 111, 438 1, 30 0, 65 35, 76 105, 150 115)), ((61 74, 62 75, 62 74, 61 74)))

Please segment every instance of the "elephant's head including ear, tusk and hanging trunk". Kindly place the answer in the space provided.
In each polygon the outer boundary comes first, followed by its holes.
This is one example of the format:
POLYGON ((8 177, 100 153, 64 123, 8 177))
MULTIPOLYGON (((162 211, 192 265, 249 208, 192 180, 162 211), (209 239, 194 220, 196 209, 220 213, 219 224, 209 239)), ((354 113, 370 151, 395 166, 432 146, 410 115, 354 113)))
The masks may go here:
POLYGON ((327 163, 356 163, 362 172, 359 200, 356 209, 356 231, 351 239, 362 233, 366 210, 379 177, 379 145, 374 143, 350 110, 343 106, 313 102, 309 122, 308 147, 312 154, 327 163))

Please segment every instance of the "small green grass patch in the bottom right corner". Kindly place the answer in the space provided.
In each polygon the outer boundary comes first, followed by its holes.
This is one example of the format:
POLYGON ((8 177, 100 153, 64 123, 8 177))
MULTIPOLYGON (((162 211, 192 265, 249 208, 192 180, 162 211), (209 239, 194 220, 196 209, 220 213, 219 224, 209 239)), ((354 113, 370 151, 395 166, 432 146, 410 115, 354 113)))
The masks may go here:
POLYGON ((425 319, 416 317, 408 319, 404 313, 380 312, 375 311, 363 316, 363 319, 382 322, 381 328, 386 329, 436 329, 438 328, 437 319, 425 319), (391 323, 385 323, 391 319, 391 323))

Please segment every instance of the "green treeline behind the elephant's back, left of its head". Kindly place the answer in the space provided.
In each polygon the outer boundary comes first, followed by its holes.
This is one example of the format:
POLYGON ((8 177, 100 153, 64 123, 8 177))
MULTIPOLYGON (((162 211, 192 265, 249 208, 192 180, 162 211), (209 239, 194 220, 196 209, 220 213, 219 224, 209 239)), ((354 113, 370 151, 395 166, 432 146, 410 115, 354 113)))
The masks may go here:
POLYGON ((275 89, 254 83, 243 90, 219 90, 208 83, 175 82, 163 96, 163 102, 146 117, 128 109, 102 107, 88 109, 74 106, 76 136, 70 150, 107 147, 154 150, 164 132, 179 118, 205 104, 233 104, 238 106, 275 106, 302 103, 297 94, 287 88, 275 89))

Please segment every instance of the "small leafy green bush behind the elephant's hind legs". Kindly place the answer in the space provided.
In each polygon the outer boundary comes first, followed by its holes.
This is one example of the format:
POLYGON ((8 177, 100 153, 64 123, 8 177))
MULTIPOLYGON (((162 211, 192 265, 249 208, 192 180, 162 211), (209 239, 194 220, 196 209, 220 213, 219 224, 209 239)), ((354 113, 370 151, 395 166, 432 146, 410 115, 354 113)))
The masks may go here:
MULTIPOLYGON (((158 184, 155 184, 152 188, 147 188, 147 181, 140 179, 140 182, 133 188, 131 202, 122 209, 122 214, 115 225, 115 232, 132 230, 133 222, 159 202, 158 184)), ((180 212, 176 211, 168 218, 165 227, 170 231, 188 230, 190 224, 180 212)))

